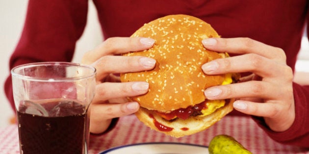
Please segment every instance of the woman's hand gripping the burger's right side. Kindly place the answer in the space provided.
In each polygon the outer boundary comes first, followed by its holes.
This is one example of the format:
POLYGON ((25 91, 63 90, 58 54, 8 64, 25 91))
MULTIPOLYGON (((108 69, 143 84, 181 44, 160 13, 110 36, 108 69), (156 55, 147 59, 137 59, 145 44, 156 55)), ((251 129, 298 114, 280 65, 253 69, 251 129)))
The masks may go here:
POLYGON ((276 132, 283 132, 293 124, 293 72, 286 65, 282 49, 248 38, 211 38, 202 43, 209 50, 239 55, 206 63, 202 66, 206 74, 252 73, 239 83, 207 88, 207 99, 239 98, 233 103, 235 110, 264 117, 269 128, 276 132))

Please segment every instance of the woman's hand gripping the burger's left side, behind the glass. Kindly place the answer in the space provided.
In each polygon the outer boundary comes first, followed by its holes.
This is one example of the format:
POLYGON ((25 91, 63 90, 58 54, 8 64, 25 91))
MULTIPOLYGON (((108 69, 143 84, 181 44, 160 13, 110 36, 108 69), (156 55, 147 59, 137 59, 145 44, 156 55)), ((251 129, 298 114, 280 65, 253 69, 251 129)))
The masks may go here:
POLYGON ((149 70, 154 68, 155 60, 141 56, 117 55, 145 50, 153 45, 153 39, 115 37, 107 39, 83 56, 81 63, 97 69, 96 94, 89 109, 90 132, 104 132, 112 118, 129 115, 139 109, 137 102, 128 102, 126 97, 146 93, 149 89, 148 83, 119 83, 119 77, 113 74, 149 70))

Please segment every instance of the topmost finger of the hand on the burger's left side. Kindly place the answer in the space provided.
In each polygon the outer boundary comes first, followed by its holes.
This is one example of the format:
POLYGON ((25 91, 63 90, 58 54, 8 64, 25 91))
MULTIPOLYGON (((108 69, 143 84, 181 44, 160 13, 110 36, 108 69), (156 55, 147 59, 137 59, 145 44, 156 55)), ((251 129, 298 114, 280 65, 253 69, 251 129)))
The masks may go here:
POLYGON ((141 37, 113 37, 108 38, 94 50, 85 53, 82 59, 83 64, 92 64, 100 57, 127 53, 129 51, 142 51, 151 48, 155 40, 141 37))

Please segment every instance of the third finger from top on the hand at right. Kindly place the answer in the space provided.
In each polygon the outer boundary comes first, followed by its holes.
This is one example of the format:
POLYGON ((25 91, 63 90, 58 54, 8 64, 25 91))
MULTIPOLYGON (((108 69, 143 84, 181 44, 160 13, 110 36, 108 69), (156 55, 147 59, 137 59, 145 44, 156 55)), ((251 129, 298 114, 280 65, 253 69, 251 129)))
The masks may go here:
POLYGON ((224 86, 215 86, 207 88, 204 94, 209 100, 227 99, 227 98, 244 98, 244 97, 258 97, 263 99, 278 99, 282 98, 281 90, 277 85, 261 82, 249 81, 243 83, 236 83, 224 86))

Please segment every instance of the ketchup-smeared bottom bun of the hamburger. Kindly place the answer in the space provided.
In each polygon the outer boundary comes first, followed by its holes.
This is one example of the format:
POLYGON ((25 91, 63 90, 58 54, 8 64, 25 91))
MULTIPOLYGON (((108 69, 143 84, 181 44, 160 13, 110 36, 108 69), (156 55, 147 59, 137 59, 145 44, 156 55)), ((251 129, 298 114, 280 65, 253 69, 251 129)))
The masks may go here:
POLYGON ((204 117, 191 116, 185 120, 177 118, 168 121, 155 114, 153 110, 147 110, 142 107, 135 113, 135 115, 141 122, 155 131, 163 132, 173 137, 182 137, 204 131, 215 124, 233 110, 233 102, 234 99, 230 99, 230 101, 226 101, 224 107, 215 110, 209 115, 204 117))

